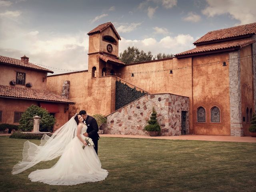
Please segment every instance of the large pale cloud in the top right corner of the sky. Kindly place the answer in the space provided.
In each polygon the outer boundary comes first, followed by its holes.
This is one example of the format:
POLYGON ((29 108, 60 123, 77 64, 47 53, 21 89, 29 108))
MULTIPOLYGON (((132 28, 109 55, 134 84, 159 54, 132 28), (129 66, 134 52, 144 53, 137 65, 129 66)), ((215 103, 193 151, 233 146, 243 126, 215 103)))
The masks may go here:
POLYGON ((202 13, 208 17, 214 17, 222 14, 230 16, 240 23, 248 24, 256 22, 256 3, 255 0, 206 0, 208 6, 202 10, 202 13))

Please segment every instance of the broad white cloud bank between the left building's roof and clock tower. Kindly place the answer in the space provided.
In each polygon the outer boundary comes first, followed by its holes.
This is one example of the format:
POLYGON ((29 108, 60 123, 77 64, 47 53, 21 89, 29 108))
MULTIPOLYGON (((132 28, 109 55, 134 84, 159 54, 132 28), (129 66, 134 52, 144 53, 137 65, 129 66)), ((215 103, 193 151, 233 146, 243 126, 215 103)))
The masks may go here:
POLYGON ((0 55, 20 59, 26 54, 30 62, 48 66, 54 74, 88 69, 89 37, 86 32, 62 35, 40 31, 38 36, 38 31, 20 28, 10 20, 2 20, 0 27, 3 26, 5 30, 0 34, 0 55), (54 68, 67 70, 58 71, 54 68))

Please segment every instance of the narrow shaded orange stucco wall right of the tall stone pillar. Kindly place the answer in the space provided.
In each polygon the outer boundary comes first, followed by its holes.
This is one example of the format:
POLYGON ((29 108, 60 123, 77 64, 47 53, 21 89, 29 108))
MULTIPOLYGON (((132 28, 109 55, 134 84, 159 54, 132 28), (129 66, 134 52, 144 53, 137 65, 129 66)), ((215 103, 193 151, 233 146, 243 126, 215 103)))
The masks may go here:
POLYGON ((250 109, 255 111, 253 106, 253 69, 252 69, 252 49, 251 45, 240 50, 240 76, 241 76, 241 106, 242 116, 245 117, 245 122, 242 121, 244 135, 249 135, 250 127, 250 109), (248 108, 248 121, 246 108, 248 108))

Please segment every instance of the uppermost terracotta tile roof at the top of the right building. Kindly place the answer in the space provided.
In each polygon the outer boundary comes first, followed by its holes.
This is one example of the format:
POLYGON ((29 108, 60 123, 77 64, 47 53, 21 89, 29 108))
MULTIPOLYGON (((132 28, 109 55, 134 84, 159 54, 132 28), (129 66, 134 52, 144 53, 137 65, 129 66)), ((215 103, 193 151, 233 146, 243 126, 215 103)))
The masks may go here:
POLYGON ((220 29, 216 31, 210 31, 200 39, 196 40, 194 44, 202 43, 202 42, 210 42, 213 40, 221 40, 226 38, 233 38, 248 34, 256 34, 256 23, 240 25, 236 27, 220 29))

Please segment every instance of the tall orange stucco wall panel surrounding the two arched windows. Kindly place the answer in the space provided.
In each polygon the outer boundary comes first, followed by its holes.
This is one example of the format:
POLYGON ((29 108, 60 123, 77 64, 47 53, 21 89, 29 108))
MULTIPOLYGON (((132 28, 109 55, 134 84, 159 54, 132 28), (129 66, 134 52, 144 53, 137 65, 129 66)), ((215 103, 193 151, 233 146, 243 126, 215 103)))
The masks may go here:
POLYGON ((193 127, 195 134, 230 135, 228 53, 193 58, 193 127), (227 66, 222 66, 226 61, 227 66), (204 64, 201 66, 201 64, 204 64), (206 122, 197 122, 197 109, 204 107, 206 122), (220 109, 220 122, 211 122, 210 110, 220 109))

